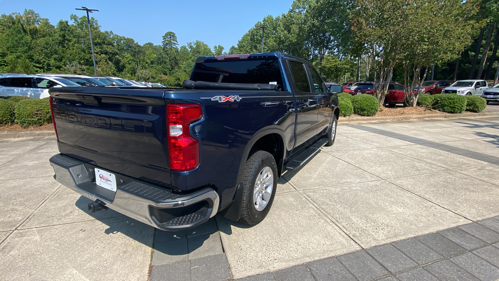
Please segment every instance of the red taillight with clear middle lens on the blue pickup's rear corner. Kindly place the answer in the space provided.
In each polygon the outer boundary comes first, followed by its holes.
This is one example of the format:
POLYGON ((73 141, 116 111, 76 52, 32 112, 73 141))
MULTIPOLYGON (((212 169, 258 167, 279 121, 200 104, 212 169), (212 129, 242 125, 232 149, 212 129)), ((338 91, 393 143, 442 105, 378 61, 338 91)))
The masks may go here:
POLYGON ((198 140, 189 133, 189 125, 203 117, 199 104, 167 104, 170 169, 187 171, 199 165, 198 140))

